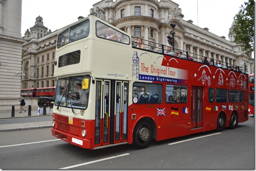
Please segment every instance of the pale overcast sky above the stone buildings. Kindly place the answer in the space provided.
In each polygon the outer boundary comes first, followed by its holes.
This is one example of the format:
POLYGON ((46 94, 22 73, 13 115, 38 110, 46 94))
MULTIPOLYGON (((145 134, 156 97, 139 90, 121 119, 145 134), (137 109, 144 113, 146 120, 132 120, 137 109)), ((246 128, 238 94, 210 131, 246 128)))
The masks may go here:
MULTIPOLYGON (((228 40, 229 28, 241 5, 248 0, 174 0, 184 15, 184 20, 192 20, 193 24, 217 36, 225 36, 228 40), (198 4, 198 5, 197 5, 198 4), (197 10, 198 8, 198 10, 197 10), (198 11, 198 12, 197 12, 198 11)), ((100 0, 22 0, 21 36, 26 29, 35 25, 36 18, 43 18, 44 26, 51 31, 67 26, 79 16, 86 17, 92 5, 100 0)))

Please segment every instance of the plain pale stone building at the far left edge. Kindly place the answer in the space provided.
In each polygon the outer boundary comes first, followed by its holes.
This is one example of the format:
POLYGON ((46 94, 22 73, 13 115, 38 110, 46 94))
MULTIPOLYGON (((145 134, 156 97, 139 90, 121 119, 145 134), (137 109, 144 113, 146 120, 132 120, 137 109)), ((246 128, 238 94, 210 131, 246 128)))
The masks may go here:
POLYGON ((0 0, 0 111, 19 107, 22 0, 0 0))

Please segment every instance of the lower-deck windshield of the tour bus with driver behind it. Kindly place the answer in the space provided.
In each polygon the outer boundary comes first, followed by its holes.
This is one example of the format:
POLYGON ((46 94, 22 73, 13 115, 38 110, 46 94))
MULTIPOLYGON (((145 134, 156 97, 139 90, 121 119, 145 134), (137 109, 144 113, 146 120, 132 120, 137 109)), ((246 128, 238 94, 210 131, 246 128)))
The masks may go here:
POLYGON ((89 88, 82 89, 83 78, 85 77, 76 76, 59 79, 56 85, 55 105, 74 109, 87 108, 89 88))

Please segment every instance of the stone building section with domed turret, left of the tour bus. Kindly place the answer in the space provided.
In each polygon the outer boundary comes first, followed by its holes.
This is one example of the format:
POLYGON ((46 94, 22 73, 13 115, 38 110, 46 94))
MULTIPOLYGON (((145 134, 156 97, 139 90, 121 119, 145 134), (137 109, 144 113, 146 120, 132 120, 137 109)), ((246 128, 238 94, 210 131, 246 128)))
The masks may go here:
POLYGON ((22 78, 21 89, 54 87, 56 39, 59 30, 51 32, 44 26, 43 18, 38 16, 35 25, 27 29, 22 46, 22 78))

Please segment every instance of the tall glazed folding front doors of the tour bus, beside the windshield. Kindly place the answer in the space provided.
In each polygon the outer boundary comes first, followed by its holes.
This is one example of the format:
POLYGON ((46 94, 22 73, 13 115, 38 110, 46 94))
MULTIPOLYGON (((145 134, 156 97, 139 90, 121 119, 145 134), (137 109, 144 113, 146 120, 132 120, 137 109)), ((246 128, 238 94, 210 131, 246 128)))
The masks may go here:
POLYGON ((97 80, 95 98, 95 146, 127 141, 128 83, 97 80))

